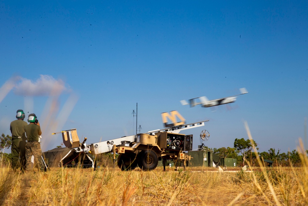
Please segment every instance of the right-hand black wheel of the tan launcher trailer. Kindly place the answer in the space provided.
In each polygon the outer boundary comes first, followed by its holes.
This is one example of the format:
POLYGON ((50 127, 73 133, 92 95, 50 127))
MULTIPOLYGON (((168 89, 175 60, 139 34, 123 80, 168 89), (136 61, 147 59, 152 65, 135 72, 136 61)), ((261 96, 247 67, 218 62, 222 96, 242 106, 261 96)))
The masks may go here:
POLYGON ((145 149, 139 153, 138 166, 142 170, 154 170, 158 164, 157 154, 152 149, 145 149))

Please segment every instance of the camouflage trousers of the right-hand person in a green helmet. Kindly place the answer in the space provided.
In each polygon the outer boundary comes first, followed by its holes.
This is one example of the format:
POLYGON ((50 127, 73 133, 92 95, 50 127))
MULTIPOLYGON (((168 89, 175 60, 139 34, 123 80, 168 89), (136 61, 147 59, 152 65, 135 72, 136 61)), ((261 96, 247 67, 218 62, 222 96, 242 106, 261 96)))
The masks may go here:
POLYGON ((31 170, 31 158, 34 156, 34 165, 39 171, 44 171, 44 164, 42 160, 41 145, 38 141, 28 141, 26 143, 26 170, 31 170))

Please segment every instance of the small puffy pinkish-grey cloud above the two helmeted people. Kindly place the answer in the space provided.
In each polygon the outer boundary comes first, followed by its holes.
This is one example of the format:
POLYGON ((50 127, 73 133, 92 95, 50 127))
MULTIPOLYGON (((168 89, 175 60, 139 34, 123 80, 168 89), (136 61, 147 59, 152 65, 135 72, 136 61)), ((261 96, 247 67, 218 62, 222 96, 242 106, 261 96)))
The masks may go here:
POLYGON ((16 95, 25 96, 48 96, 55 95, 57 91, 68 91, 64 82, 59 79, 56 80, 50 75, 40 75, 40 78, 36 82, 32 82, 30 79, 21 78, 14 87, 14 93, 16 95))

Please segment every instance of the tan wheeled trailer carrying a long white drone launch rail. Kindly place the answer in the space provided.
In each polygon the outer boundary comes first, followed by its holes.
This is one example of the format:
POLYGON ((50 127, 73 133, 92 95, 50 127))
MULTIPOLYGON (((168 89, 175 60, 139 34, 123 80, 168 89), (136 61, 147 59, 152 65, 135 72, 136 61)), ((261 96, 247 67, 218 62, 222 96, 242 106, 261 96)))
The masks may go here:
MULTIPOLYGON (((175 115, 179 114, 176 113, 175 115)), ((171 127, 128 137, 115 138, 91 145, 86 145, 85 141, 87 138, 82 143, 79 142, 76 129, 53 134, 62 133, 65 146, 76 152, 91 153, 93 155, 113 152, 114 163, 115 153, 118 153, 117 164, 121 170, 133 170, 137 166, 143 170, 153 170, 156 168, 158 161, 161 160, 163 160, 165 169, 165 163, 168 159, 185 161, 189 159, 185 155, 185 151, 193 149, 193 135, 179 134, 179 132, 185 129, 204 126, 204 123, 207 121, 209 120, 191 124, 168 125, 171 127)))

